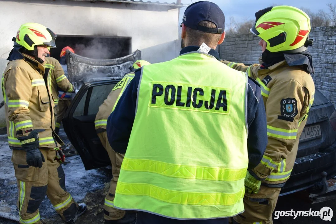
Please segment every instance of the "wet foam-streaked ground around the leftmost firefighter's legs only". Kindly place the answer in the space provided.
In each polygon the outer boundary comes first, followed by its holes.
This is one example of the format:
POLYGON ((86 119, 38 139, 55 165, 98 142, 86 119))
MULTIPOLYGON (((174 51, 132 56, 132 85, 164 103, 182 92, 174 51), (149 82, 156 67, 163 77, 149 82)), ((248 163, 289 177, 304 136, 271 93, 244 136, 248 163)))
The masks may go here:
MULTIPOLYGON (((68 145, 65 150, 66 162, 62 165, 66 173, 67 190, 76 201, 88 206, 86 214, 81 216, 78 223, 103 223, 103 204, 112 177, 111 167, 85 171, 80 156, 66 139, 65 133, 61 131, 60 137, 68 145)), ((17 223, 10 220, 18 221, 16 178, 10 159, 7 135, 0 135, 0 217, 6 218, 0 218, 0 223, 3 224, 17 223)), ((45 224, 61 223, 47 197, 40 206, 40 215, 45 224)))

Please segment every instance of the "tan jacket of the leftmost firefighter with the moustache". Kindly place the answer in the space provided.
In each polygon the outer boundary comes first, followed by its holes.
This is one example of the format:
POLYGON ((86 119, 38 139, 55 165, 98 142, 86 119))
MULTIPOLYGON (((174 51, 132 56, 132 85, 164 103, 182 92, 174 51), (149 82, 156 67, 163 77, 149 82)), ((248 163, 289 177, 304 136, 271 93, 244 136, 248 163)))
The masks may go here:
POLYGON ((9 61, 2 76, 9 147, 22 149, 17 137, 28 135, 30 130, 39 132, 40 146, 53 148, 63 145, 53 131, 54 105, 44 80, 45 68, 23 55, 24 59, 9 61))

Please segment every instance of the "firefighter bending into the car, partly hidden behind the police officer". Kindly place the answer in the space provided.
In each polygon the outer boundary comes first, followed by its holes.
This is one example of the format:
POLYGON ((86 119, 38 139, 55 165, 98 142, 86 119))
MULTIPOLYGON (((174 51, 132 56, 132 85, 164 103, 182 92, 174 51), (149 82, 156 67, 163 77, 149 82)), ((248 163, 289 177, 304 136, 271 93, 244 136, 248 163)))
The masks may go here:
POLYGON ((150 63, 145 60, 137 60, 134 62, 134 64, 130 67, 131 71, 124 75, 123 79, 112 89, 107 99, 104 100, 104 102, 99 106, 99 110, 96 115, 96 119, 94 121, 97 135, 102 145, 107 150, 110 160, 111 160, 111 165, 112 165, 113 178, 111 179, 110 189, 109 189, 108 194, 105 197, 105 203, 104 203, 104 219, 105 219, 106 224, 135 223, 135 216, 132 216, 131 214, 126 214, 125 211, 115 209, 113 207, 114 195, 116 194, 116 186, 117 186, 117 181, 118 181, 118 177, 120 173, 121 163, 124 159, 124 154, 116 153, 111 147, 107 139, 106 123, 107 123, 107 118, 110 116, 110 114, 114 110, 116 103, 118 102, 121 94, 125 91, 129 82, 133 79, 134 71, 138 68, 141 68, 141 66, 146 65, 146 64, 150 64, 150 63))

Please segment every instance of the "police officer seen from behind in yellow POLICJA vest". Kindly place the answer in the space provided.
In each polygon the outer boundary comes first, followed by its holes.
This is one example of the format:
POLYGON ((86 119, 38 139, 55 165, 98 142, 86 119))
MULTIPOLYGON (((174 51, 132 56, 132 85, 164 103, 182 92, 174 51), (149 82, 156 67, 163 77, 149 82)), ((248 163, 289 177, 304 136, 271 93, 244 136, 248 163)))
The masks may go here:
POLYGON ((180 55, 136 70, 108 118, 111 147, 126 153, 113 205, 139 224, 228 223, 244 211, 266 118, 257 84, 219 62, 224 23, 212 2, 188 6, 180 55))

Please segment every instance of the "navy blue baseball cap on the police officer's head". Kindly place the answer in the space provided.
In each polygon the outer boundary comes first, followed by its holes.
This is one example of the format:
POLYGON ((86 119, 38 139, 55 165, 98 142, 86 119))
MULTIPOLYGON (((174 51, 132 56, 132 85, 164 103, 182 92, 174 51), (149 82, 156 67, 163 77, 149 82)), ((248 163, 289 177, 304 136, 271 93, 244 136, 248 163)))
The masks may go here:
POLYGON ((185 9, 182 24, 193 30, 222 34, 225 28, 225 16, 223 11, 215 3, 199 1, 189 5, 185 9), (210 21, 216 24, 217 28, 207 28, 198 25, 201 21, 210 21))

